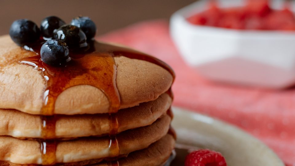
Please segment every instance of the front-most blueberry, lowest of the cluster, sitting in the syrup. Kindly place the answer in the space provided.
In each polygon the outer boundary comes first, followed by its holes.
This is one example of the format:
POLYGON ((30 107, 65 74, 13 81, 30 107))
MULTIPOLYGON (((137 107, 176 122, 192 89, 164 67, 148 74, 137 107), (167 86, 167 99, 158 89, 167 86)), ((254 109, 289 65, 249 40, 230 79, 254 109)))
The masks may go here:
POLYGON ((69 61, 69 48, 64 41, 48 40, 41 47, 41 59, 48 65, 61 66, 69 61))

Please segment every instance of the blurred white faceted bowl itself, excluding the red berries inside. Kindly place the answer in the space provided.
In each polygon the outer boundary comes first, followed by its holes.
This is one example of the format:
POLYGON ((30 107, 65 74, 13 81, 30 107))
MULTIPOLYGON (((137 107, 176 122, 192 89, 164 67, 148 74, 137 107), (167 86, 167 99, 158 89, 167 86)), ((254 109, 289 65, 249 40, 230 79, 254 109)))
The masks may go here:
MULTIPOLYGON (((189 65, 214 81, 276 89, 294 85, 295 32, 232 30, 187 22, 188 16, 206 10, 207 2, 195 2, 171 17, 171 37, 189 65)), ((219 1, 221 7, 242 2, 219 1)), ((281 2, 274 1, 272 6, 280 8, 281 2)))

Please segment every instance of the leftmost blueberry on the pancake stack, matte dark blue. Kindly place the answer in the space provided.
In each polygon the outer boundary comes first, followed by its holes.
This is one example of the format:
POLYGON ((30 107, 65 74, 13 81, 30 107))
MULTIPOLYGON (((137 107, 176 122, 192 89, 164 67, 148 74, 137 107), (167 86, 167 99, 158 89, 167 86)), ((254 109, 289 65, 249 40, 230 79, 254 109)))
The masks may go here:
POLYGON ((34 22, 27 19, 20 19, 11 24, 9 35, 20 46, 30 45, 39 40, 40 29, 34 22))

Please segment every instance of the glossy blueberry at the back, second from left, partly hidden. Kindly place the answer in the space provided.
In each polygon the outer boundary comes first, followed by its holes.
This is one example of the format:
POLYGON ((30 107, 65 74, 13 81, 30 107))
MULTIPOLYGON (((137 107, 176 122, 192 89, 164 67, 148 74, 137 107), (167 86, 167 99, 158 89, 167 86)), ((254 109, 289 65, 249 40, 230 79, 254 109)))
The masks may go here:
POLYGON ((41 33, 45 38, 52 38, 53 30, 63 25, 65 25, 65 22, 56 16, 46 17, 41 21, 41 33))

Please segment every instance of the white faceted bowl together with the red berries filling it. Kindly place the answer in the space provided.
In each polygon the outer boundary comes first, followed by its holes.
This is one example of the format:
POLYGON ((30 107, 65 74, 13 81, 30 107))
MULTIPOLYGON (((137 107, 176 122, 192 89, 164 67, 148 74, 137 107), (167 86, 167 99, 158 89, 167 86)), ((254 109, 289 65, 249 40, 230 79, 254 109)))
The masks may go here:
POLYGON ((172 15, 171 37, 184 60, 209 80, 286 88, 295 83, 295 17, 272 5, 198 1, 172 15))

